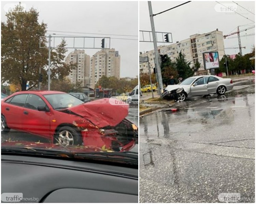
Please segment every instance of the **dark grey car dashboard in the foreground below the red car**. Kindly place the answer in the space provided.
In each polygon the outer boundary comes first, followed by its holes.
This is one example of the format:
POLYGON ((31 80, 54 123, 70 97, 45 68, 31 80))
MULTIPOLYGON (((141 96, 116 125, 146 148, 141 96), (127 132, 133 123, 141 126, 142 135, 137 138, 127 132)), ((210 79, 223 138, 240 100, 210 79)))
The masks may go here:
POLYGON ((1 164, 1 193, 32 199, 24 202, 138 203, 138 168, 10 154, 1 164))

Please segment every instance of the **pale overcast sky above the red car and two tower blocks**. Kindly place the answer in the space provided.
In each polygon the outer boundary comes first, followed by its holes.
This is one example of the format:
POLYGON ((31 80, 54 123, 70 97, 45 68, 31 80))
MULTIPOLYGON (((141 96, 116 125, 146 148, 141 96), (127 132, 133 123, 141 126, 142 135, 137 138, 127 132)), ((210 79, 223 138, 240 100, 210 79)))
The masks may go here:
MULTIPOLYGON (((3 6, 6 3, 18 3, 19 1, 1 2, 1 21, 6 21, 3 6)), ((69 34, 112 38, 132 38, 132 36, 110 36, 99 34, 118 34, 138 36, 138 2, 83 2, 83 1, 22 1, 27 10, 32 6, 39 11, 39 23, 47 23, 47 30, 97 33, 74 34, 48 32, 49 34, 69 34)), ((99 45, 100 47, 101 45, 99 45)), ((119 51, 121 56, 120 77, 135 77, 138 75, 138 41, 111 39, 111 48, 119 51)), ((69 52, 72 50, 69 50, 69 52)), ((92 56, 99 50, 86 49, 86 54, 92 56)))

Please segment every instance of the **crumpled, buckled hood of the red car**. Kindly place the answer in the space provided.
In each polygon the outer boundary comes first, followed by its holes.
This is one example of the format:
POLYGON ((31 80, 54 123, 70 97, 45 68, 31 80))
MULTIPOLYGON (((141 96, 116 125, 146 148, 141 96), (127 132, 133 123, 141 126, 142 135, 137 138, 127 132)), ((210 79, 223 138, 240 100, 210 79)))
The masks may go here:
MULTIPOLYGON (((99 99, 85 104, 68 108, 83 118, 91 121, 98 128, 106 126, 116 126, 128 115, 129 105, 111 105, 109 100, 116 99, 99 99)), ((112 102, 114 104, 114 102, 112 102)))

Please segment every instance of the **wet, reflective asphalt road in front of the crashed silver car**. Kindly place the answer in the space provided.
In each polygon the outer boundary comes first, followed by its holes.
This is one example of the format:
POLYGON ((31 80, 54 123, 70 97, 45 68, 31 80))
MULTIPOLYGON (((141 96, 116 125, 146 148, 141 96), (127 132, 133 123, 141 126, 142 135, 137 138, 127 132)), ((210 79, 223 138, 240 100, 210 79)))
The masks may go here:
POLYGON ((219 202, 219 193, 239 192, 254 203, 255 81, 175 106, 140 118, 140 202, 219 202))

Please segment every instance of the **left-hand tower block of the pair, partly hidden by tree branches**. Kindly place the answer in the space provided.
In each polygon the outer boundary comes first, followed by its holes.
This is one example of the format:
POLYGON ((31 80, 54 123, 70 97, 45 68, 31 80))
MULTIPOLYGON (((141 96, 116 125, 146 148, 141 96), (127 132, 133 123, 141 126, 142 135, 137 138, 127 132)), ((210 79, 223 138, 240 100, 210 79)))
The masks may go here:
POLYGON ((65 63, 75 63, 77 68, 72 70, 67 78, 72 84, 76 82, 82 82, 81 86, 89 85, 89 74, 90 74, 90 56, 85 54, 84 50, 75 49, 73 52, 69 53, 65 58, 65 63))

